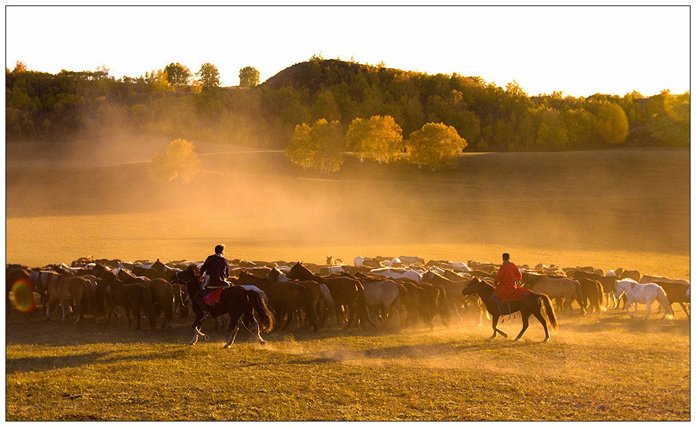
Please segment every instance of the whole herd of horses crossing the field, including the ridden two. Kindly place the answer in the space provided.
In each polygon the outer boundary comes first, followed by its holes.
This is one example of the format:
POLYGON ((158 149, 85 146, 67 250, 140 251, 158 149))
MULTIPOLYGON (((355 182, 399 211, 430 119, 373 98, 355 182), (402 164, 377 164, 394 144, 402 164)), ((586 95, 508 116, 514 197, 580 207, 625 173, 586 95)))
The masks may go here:
MULTIPOLYGON (((66 264, 27 268, 17 264, 6 267, 6 303, 13 296, 13 285, 31 284, 42 303, 45 319, 61 309, 63 321, 74 316, 78 323, 84 316, 109 325, 115 313, 129 327, 141 328, 144 315, 150 328, 172 328, 175 315, 189 316, 193 309, 195 335, 207 319, 191 298, 202 279, 194 261, 157 259, 127 263, 118 259, 80 258, 66 264), (72 314, 71 314, 72 313, 72 314)), ((473 321, 482 324, 484 316, 493 321, 493 337, 498 333, 498 319, 503 315, 491 300, 493 280, 498 264, 477 261, 428 261, 419 257, 356 257, 354 265, 327 257, 326 265, 288 263, 285 261, 230 261, 229 280, 235 286, 222 291, 219 303, 209 310, 216 317, 216 328, 227 323, 232 330, 226 347, 232 344, 240 327, 252 332, 263 344, 260 332, 270 332, 274 323, 280 329, 342 327, 392 328, 404 330, 419 324, 433 330, 436 319, 446 327, 450 323, 473 321)), ((516 302, 510 312, 520 311, 523 329, 534 314, 549 332, 542 312, 557 328, 556 312, 601 314, 609 307, 624 303, 626 312, 638 303, 647 304, 647 316, 654 300, 660 304, 666 321, 672 316, 671 305, 679 303, 690 316, 688 280, 641 276, 638 271, 618 268, 601 271, 591 266, 560 268, 539 264, 520 266, 523 286, 532 291, 530 300, 516 302), (555 302, 555 308, 551 305, 555 302), (576 303, 579 311, 576 312, 576 303)), ((9 305, 8 305, 9 307, 9 305)), ((505 313, 507 314, 507 313, 505 313)), ((631 315, 633 316, 633 315, 631 315)), ((645 316, 645 319, 647 319, 645 316)))

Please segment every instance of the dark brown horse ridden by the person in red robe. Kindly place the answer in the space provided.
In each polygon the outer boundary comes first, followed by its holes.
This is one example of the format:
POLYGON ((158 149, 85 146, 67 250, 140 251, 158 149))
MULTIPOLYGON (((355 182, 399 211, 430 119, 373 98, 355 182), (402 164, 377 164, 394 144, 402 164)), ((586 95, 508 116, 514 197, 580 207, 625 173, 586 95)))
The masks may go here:
MULTIPOLYGON (((493 335, 491 335, 491 339, 495 338, 498 333, 507 338, 507 334, 497 328, 498 319, 500 319, 500 308, 498 307, 498 304, 493 301, 492 297, 494 290, 495 288, 493 288, 490 284, 475 278, 466 285, 461 293, 464 296, 476 294, 486 305, 488 312, 491 314, 491 317, 493 317, 493 335)), ((544 319, 544 316, 541 315, 541 309, 544 309, 544 312, 546 312, 548 321, 551 323, 551 328, 553 330, 558 329, 558 321, 556 319, 556 314, 553 311, 551 300, 548 299, 548 296, 544 295, 543 293, 531 292, 528 296, 525 296, 519 301, 514 301, 514 303, 509 303, 509 305, 511 313, 521 312, 522 314, 522 330, 515 338, 515 341, 520 339, 524 331, 529 327, 529 316, 532 314, 534 314, 534 316, 539 320, 539 323, 544 326, 544 332, 546 333, 544 342, 548 341, 551 335, 549 335, 548 328, 546 327, 546 319, 544 319)))

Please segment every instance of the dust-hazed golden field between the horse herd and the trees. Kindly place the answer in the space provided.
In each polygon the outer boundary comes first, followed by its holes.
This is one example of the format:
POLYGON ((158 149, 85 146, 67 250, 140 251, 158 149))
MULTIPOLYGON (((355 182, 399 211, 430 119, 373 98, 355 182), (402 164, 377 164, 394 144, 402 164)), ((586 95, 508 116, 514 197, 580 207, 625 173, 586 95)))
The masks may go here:
MULTIPOLYGON (((7 261, 200 260, 216 243, 230 258, 317 264, 428 257, 374 252, 386 245, 689 253, 686 149, 465 154, 457 170, 436 172, 345 156, 326 177, 282 151, 192 140, 201 172, 190 184, 157 185, 152 155, 169 141, 114 133, 9 144, 7 261), (290 249, 301 247, 322 252, 290 249)), ((454 260, 467 259, 498 261, 454 260)))

